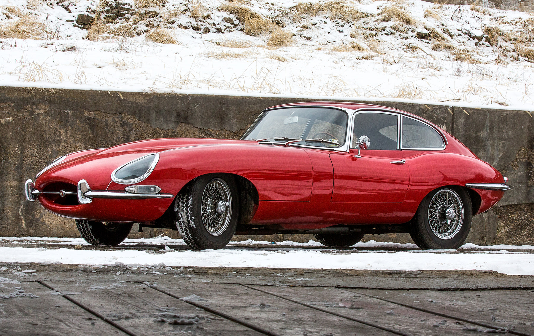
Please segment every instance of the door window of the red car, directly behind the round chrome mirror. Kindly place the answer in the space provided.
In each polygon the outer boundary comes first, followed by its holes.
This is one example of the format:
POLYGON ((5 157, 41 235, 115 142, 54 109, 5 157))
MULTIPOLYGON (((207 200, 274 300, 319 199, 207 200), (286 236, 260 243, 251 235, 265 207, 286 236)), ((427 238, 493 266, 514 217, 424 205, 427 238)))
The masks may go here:
POLYGON ((356 148, 359 137, 367 135, 371 141, 369 149, 396 150, 398 137, 398 115, 365 112, 354 117, 352 146, 356 148))

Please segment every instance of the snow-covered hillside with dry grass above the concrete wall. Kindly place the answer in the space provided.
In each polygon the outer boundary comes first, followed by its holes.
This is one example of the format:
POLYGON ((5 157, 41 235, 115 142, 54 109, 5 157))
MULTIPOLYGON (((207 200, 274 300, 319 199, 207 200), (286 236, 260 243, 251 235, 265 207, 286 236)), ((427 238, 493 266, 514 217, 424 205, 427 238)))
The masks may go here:
POLYGON ((534 17, 419 0, 3 0, 0 85, 532 110, 534 17))

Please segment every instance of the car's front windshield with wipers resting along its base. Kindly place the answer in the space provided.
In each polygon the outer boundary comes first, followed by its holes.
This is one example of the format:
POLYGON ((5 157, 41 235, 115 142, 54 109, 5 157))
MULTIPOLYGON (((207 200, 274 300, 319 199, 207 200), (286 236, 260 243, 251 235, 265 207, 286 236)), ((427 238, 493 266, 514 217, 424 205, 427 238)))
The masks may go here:
POLYGON ((333 143, 312 141, 313 146, 339 147, 345 143, 347 121, 347 113, 333 108, 280 108, 264 112, 241 139, 268 142, 324 139, 333 143))

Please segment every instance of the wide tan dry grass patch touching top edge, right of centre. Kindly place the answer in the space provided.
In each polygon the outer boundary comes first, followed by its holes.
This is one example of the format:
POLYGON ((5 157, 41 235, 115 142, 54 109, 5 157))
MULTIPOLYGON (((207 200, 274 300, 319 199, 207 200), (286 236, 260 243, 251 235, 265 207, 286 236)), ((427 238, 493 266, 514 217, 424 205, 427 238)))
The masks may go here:
POLYGON ((316 17, 319 14, 328 14, 331 20, 341 20, 344 22, 352 22, 365 17, 364 13, 340 0, 318 3, 300 2, 290 7, 289 10, 293 11, 297 17, 316 17))

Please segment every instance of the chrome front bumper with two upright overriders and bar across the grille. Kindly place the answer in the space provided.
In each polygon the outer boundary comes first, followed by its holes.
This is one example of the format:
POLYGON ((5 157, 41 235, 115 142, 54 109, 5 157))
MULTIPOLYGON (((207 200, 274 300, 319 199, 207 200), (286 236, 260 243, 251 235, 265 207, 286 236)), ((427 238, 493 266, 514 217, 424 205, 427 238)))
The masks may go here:
MULTIPOLYGON (((150 186, 155 187, 155 190, 161 190, 158 186, 150 186)), ((130 189, 131 190, 131 189, 130 189)), ((74 191, 65 191, 65 190, 59 190, 59 191, 40 191, 35 189, 34 182, 32 179, 26 180, 25 186, 24 186, 24 194, 26 196, 26 199, 30 202, 35 202, 37 199, 37 196, 41 194, 56 194, 61 197, 65 197, 67 195, 77 195, 78 197, 78 203, 80 204, 88 204, 91 203, 93 198, 115 198, 115 199, 147 199, 147 198, 170 198, 174 197, 172 194, 162 194, 162 193, 154 193, 154 194, 136 194, 131 193, 129 191, 121 191, 121 190, 92 190, 89 187, 89 183, 85 180, 80 180, 78 182, 77 192, 74 193, 74 191)))

